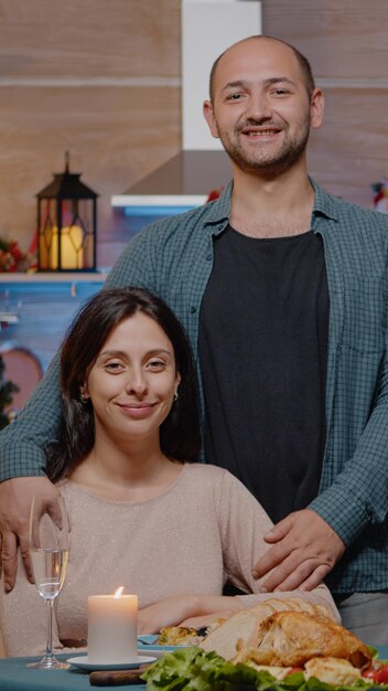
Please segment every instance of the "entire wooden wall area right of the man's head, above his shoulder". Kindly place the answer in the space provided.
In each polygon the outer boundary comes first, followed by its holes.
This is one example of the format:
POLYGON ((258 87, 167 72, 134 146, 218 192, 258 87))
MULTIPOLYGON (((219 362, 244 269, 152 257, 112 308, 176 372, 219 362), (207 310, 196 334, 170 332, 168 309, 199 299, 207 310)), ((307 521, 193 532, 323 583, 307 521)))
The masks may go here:
POLYGON ((388 176, 386 0, 263 0, 263 33, 306 55, 326 96, 309 167, 328 191, 373 206, 370 184, 388 176))

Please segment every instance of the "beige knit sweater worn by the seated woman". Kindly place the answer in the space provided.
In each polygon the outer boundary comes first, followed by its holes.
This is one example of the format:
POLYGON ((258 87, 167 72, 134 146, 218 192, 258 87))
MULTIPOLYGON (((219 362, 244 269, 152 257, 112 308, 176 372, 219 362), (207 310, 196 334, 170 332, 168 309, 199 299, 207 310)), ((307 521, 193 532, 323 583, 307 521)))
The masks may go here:
MULTIPOLYGON (((87 596, 112 594, 120 585, 138 594, 140 607, 179 594, 220 595, 227 578, 247 594, 257 593, 251 568, 267 550, 262 535, 271 521, 227 470, 186 464, 166 490, 141 502, 104 499, 73 481, 65 481, 62 491, 72 543, 55 603, 56 651, 69 650, 61 640, 86 639, 87 596)), ((248 607, 270 596, 240 599, 248 607)), ((335 610, 323 585, 303 596, 335 610)), ((43 652, 45 603, 21 564, 14 589, 0 599, 6 655, 43 652)))

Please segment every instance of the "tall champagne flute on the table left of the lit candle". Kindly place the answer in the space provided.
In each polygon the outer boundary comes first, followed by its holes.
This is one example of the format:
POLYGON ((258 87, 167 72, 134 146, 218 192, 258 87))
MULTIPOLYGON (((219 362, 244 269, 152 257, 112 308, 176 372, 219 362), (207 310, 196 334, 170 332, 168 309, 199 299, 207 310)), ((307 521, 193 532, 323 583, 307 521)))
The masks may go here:
POLYGON ((46 602, 48 635, 43 658, 28 667, 66 669, 68 665, 57 660, 52 650, 54 599, 65 580, 69 543, 68 518, 62 495, 50 501, 33 497, 29 541, 35 585, 46 602))

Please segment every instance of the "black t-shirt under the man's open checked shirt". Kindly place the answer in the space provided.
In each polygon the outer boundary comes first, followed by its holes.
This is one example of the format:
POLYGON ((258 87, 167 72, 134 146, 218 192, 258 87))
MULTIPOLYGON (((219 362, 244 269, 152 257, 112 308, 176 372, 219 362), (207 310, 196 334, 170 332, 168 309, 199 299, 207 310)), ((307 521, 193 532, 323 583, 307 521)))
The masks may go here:
POLYGON ((317 495, 328 307, 320 235, 258 240, 228 227, 214 241, 198 343, 206 459, 274 522, 317 495))

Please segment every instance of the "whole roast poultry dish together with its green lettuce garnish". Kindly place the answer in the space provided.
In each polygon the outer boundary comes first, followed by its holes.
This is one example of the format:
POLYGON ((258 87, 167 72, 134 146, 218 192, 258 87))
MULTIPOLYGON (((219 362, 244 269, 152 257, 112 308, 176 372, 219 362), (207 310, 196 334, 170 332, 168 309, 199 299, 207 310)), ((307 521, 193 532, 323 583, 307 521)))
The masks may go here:
POLYGON ((215 691, 226 682, 233 688, 268 690, 272 684, 268 674, 277 680, 273 687, 279 691, 300 691, 306 682, 316 691, 327 691, 325 684, 333 691, 367 690, 370 684, 388 689, 388 665, 371 660, 369 648, 336 624, 328 609, 299 598, 271 598, 244 609, 198 646, 168 658, 144 674, 149 691, 161 691, 164 684, 194 689, 198 674, 215 691))

